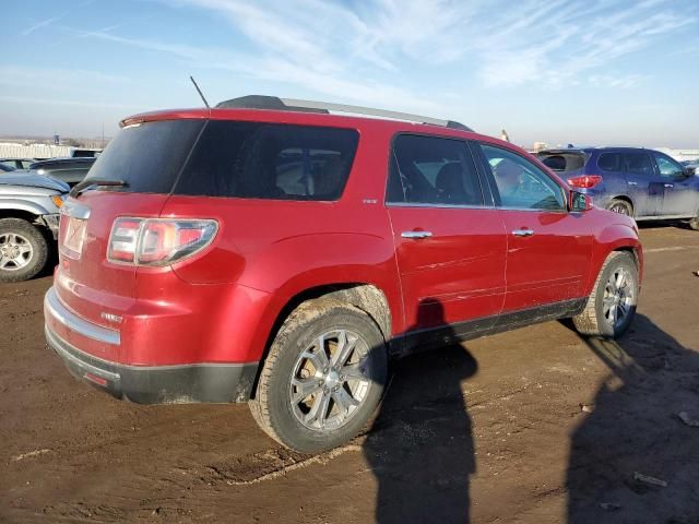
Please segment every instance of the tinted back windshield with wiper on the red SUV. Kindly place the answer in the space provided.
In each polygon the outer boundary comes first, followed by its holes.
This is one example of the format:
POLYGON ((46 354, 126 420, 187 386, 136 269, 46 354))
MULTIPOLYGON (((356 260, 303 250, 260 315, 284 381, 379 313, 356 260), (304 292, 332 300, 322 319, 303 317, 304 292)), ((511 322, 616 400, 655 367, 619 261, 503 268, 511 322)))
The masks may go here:
POLYGON ((123 180, 119 191, 169 193, 205 120, 128 126, 109 142, 88 179, 123 180))

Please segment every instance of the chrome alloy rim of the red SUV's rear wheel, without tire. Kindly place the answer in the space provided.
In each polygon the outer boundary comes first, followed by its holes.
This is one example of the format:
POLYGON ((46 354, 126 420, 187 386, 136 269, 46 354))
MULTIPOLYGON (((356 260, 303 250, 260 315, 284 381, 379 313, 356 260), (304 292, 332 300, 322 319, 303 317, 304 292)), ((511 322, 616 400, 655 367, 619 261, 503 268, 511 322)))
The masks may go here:
POLYGON ((296 419, 308 429, 341 428, 367 397, 370 373, 367 343, 356 333, 323 333, 299 355, 289 384, 296 419))

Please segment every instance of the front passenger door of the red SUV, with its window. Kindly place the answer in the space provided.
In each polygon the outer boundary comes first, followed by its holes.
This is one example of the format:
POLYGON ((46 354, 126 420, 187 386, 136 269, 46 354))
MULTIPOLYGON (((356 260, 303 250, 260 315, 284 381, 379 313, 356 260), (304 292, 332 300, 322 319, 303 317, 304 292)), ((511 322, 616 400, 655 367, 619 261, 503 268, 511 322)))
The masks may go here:
POLYGON ((564 188, 512 150, 488 143, 479 147, 507 230, 503 313, 564 307, 582 298, 592 234, 581 214, 568 212, 564 188))

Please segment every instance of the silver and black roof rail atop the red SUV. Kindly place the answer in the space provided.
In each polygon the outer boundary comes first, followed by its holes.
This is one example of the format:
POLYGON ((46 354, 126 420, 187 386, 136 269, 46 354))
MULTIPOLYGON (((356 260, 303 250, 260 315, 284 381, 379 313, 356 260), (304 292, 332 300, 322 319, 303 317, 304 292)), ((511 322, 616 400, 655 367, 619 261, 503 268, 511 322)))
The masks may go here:
POLYGON ((430 126, 441 126, 443 128, 460 129, 462 131, 473 131, 463 123, 453 120, 440 120, 431 117, 420 117, 408 112, 388 111, 386 109, 375 109, 371 107, 351 106, 346 104, 333 104, 330 102, 301 100, 297 98, 279 98, 276 96, 248 95, 239 98, 232 98, 216 105, 218 109, 273 109, 281 111, 300 112, 348 112, 353 115, 367 115, 370 117, 390 118, 393 120, 405 120, 408 122, 427 123, 430 126))

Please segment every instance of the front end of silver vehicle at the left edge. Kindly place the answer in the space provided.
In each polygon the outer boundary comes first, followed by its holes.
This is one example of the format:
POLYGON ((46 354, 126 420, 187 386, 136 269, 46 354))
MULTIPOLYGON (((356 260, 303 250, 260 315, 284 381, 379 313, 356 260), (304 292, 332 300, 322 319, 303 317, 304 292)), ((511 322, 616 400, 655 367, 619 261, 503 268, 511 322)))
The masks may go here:
POLYGON ((0 282, 26 281, 46 266, 69 189, 31 171, 0 176, 0 282))

